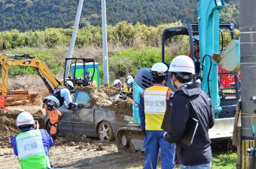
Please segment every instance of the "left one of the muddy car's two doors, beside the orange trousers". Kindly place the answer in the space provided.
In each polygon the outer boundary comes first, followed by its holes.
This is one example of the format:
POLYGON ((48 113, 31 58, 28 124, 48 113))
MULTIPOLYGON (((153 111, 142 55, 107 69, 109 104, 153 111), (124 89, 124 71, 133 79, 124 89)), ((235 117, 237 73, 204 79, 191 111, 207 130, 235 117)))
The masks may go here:
MULTIPOLYGON (((74 101, 74 95, 75 95, 75 92, 70 92, 70 96, 71 96, 71 99, 73 99, 73 101, 74 101)), ((60 133, 71 133, 72 132, 72 124, 71 124, 72 110, 69 110, 64 106, 61 106, 60 108, 58 108, 58 110, 62 114, 58 124, 58 131, 60 133)))

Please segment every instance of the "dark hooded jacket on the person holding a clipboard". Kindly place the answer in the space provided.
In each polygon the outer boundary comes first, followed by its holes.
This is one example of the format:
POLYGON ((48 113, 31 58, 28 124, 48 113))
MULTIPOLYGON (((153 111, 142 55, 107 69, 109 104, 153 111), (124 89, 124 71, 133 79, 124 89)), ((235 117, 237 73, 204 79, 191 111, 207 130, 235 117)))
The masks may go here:
POLYGON ((170 129, 166 137, 176 143, 177 159, 183 165, 200 165, 211 162, 212 154, 208 129, 214 126, 214 112, 210 99, 201 90, 201 83, 184 84, 175 92, 172 112, 170 113, 170 129), (193 143, 190 147, 179 140, 186 130, 189 117, 199 120, 193 143))

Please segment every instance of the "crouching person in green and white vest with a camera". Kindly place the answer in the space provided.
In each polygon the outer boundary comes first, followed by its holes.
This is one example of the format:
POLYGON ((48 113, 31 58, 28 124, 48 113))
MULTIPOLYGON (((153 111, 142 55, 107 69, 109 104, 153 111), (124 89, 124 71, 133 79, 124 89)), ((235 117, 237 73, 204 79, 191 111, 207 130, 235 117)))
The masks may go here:
POLYGON ((52 137, 46 130, 39 129, 29 112, 18 115, 17 127, 20 133, 10 140, 21 168, 51 168, 49 149, 53 145, 52 137))

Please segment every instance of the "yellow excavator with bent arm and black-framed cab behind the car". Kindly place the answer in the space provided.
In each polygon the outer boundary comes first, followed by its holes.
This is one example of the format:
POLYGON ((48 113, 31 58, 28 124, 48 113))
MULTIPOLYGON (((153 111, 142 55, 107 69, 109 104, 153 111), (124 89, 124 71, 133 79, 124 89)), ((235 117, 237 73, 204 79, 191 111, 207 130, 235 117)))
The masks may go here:
MULTIPOLYGON (((19 66, 32 66, 37 71, 38 75, 44 81, 45 85, 47 86, 50 93, 53 93, 54 90, 60 86, 62 86, 66 80, 71 80, 75 86, 88 86, 92 85, 95 86, 96 81, 94 81, 94 73, 95 73, 95 61, 93 58, 69 58, 67 60, 74 60, 75 61, 75 67, 74 70, 76 71, 76 65, 77 61, 82 61, 82 67, 83 67, 83 77, 77 78, 76 72, 72 75, 72 78, 69 77, 69 79, 63 78, 62 82, 58 81, 53 74, 51 73, 51 70, 47 67, 44 61, 37 57, 30 56, 28 54, 24 55, 9 55, 9 54, 3 54, 0 56, 0 69, 2 73, 2 86, 0 87, 0 91, 2 91, 2 95, 0 96, 0 109, 7 110, 4 105, 7 102, 7 84, 8 84, 8 70, 9 66, 11 65, 19 65, 19 66), (14 57, 14 58, 7 58, 7 57, 14 57), (17 58, 25 58, 17 60, 17 58), (86 63, 91 63, 93 65, 92 70, 92 76, 91 72, 86 71, 86 63), (51 85, 53 86, 51 86, 51 85)), ((66 65, 65 65, 66 67, 66 65)), ((65 72, 65 70, 64 70, 65 72)), ((97 71, 98 72, 98 71, 97 71)), ((65 77, 65 75, 64 75, 65 77)))

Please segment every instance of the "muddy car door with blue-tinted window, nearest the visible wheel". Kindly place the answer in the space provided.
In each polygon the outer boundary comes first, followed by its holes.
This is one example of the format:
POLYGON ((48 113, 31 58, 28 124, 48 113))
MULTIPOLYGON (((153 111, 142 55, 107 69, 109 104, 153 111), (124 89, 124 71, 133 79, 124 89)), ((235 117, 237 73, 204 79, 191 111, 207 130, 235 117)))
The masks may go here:
POLYGON ((87 136, 95 136, 94 129, 94 108, 89 106, 91 100, 90 94, 85 91, 77 91, 75 95, 75 103, 82 105, 81 108, 74 108, 71 115, 73 132, 77 134, 85 134, 87 136))

